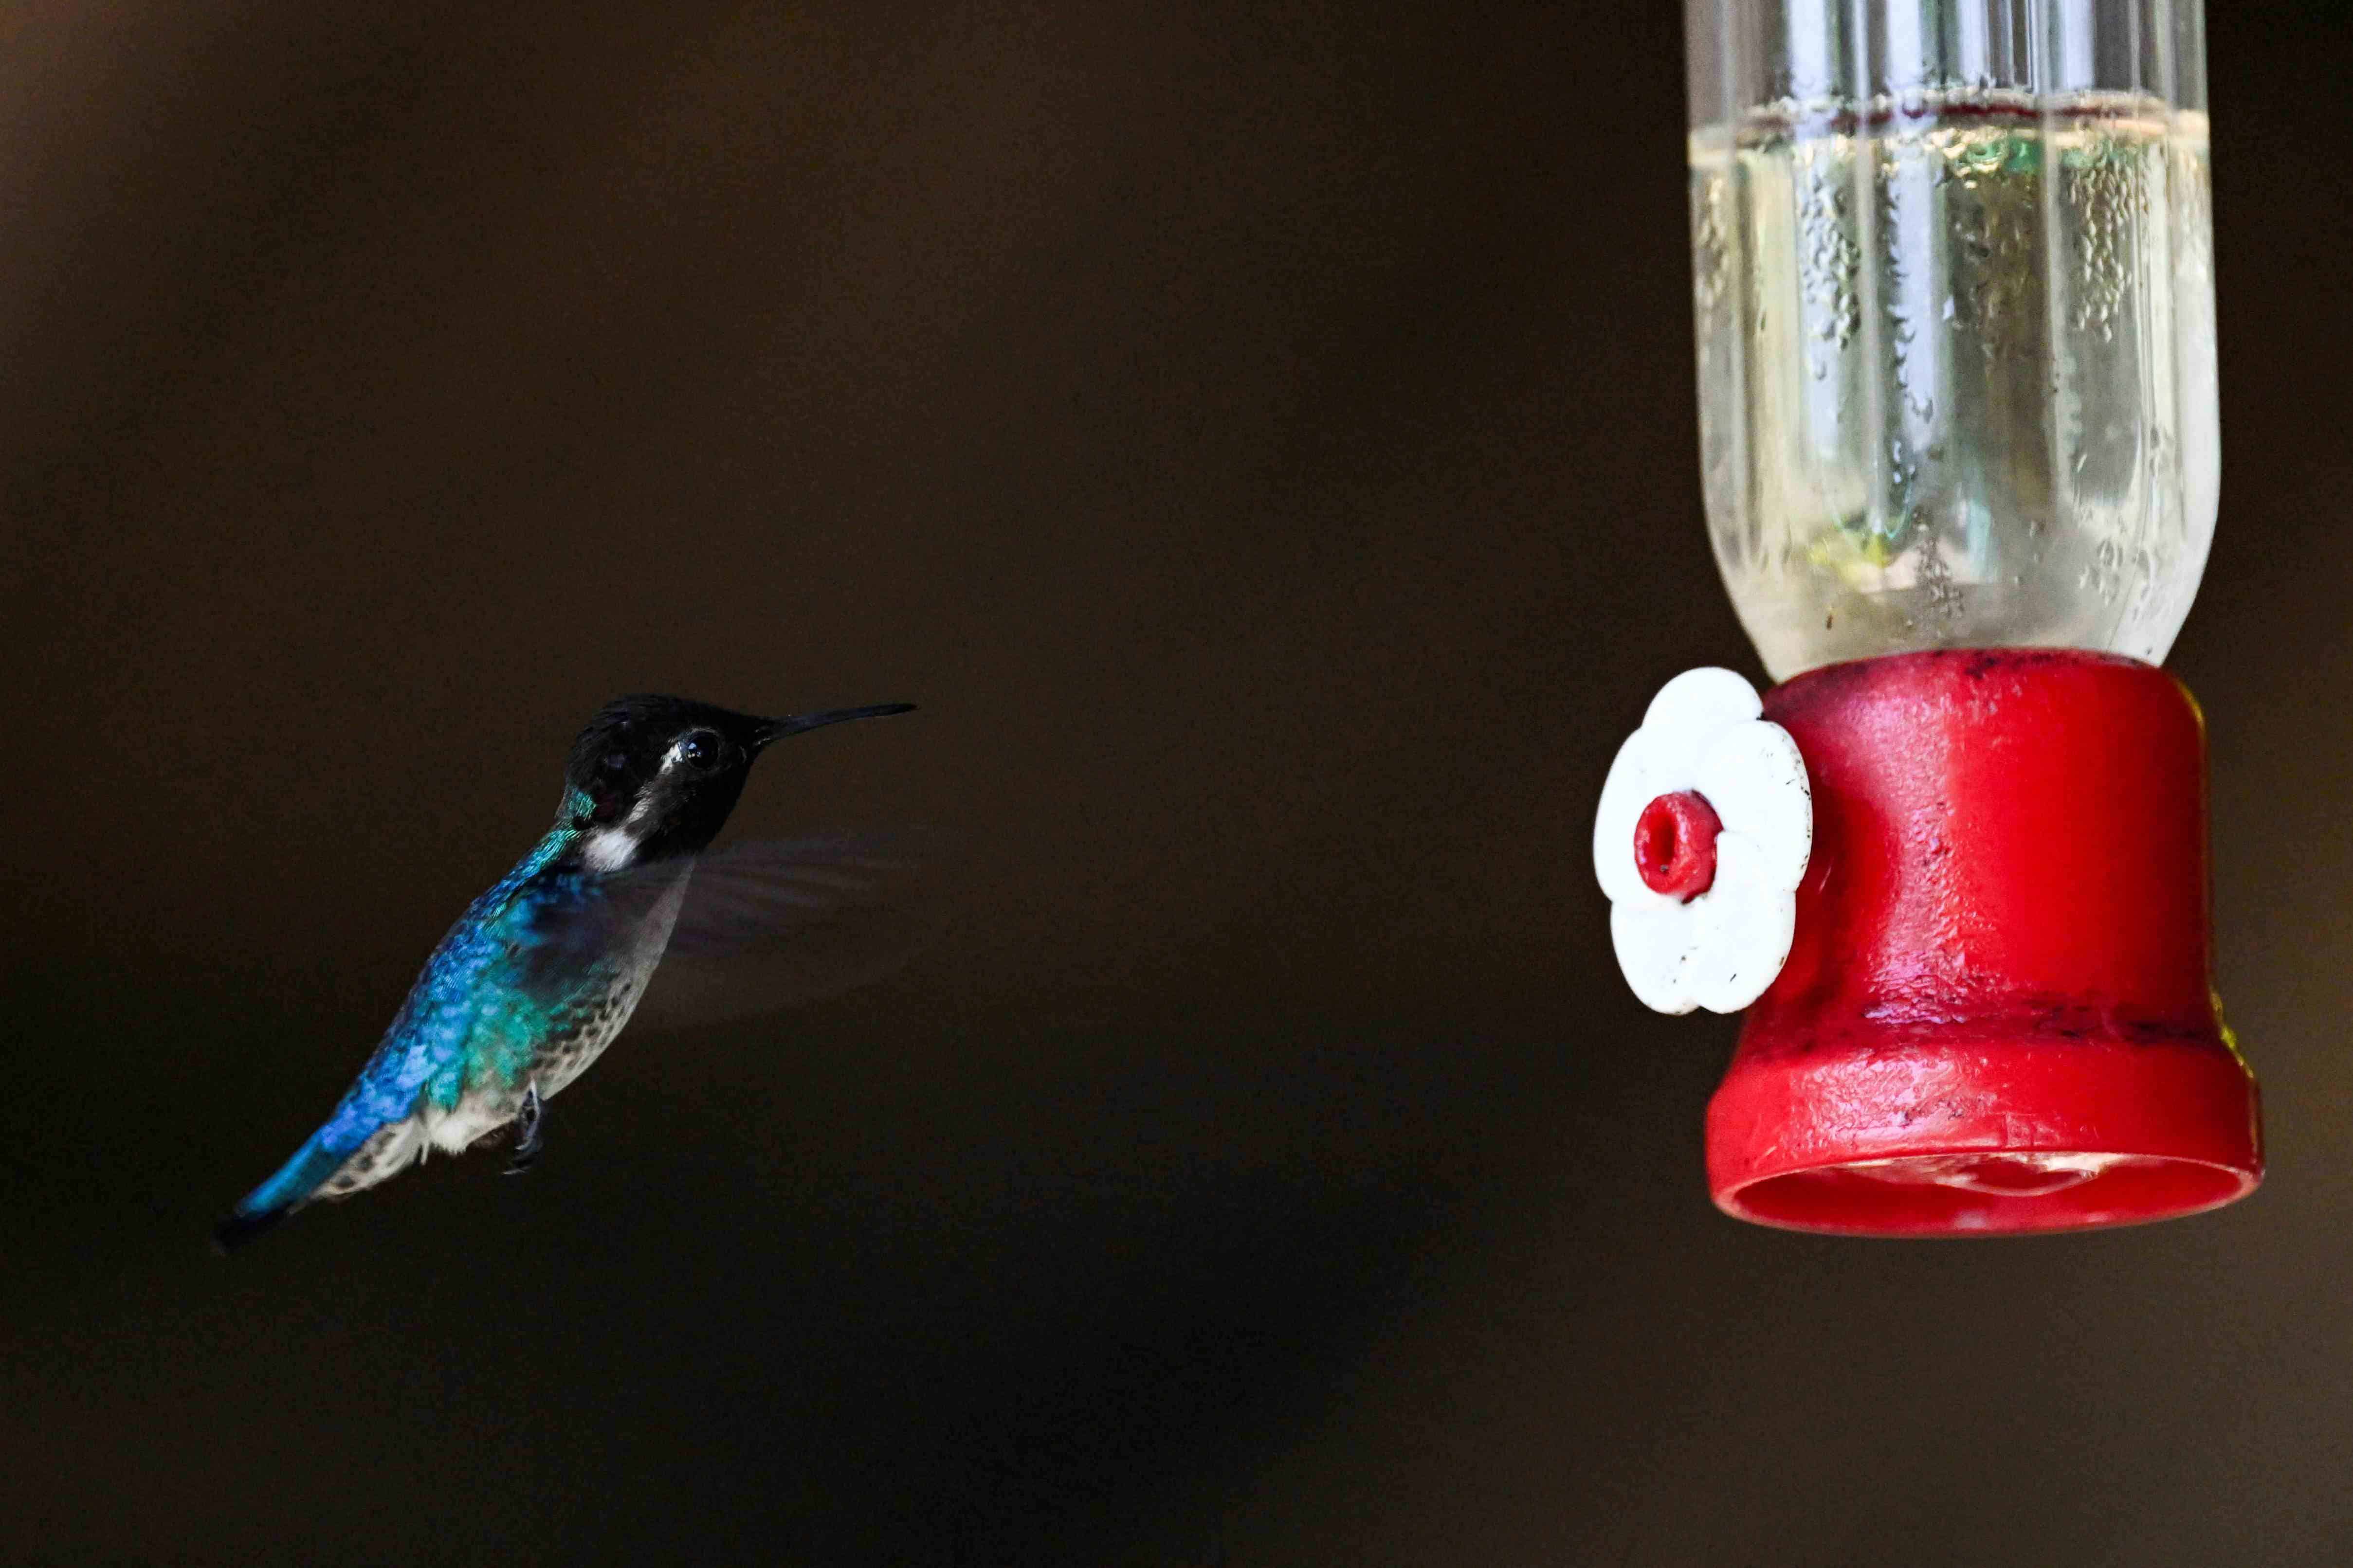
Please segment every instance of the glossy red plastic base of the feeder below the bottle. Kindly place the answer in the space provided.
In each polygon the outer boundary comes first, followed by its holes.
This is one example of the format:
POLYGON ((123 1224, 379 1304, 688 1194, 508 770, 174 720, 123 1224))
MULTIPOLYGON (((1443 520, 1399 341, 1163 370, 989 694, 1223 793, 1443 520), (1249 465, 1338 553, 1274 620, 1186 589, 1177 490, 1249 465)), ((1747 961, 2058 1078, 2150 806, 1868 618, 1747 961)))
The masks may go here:
POLYGON ((1814 853, 1708 1103, 1718 1208, 1955 1237, 2254 1192, 2188 691, 2104 654, 1897 654, 1800 675, 1765 717, 1805 752, 1814 853))

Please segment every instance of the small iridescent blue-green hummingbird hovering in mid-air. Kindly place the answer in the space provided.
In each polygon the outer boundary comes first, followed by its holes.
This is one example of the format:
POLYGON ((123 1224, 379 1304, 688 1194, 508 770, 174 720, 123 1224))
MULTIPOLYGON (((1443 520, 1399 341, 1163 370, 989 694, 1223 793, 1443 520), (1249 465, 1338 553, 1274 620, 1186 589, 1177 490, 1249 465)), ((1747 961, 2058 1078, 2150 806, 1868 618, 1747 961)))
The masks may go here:
POLYGON ((856 886, 859 853, 838 842, 711 851, 753 762, 786 736, 911 710, 762 719, 675 696, 598 710, 555 825, 466 907, 327 1121, 214 1227, 219 1248, 504 1128, 508 1171, 529 1168, 546 1103, 614 1041, 666 952, 791 926, 856 886))

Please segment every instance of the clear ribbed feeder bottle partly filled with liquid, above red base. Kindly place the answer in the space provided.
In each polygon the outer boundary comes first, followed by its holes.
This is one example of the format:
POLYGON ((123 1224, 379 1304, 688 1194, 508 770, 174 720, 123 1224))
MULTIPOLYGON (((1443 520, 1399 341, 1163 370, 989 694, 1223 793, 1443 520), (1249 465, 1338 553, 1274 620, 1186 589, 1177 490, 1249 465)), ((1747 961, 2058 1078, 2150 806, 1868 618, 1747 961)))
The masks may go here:
POLYGON ((2195 0, 1692 0, 1708 531, 1786 679, 2158 663, 2221 470, 2195 0))

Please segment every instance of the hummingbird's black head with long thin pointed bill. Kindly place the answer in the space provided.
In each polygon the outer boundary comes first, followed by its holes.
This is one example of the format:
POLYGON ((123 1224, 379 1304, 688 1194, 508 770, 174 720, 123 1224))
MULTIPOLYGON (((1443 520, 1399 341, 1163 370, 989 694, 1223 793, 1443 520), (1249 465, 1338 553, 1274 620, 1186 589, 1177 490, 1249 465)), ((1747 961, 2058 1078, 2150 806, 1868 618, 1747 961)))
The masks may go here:
POLYGON ((616 872, 692 856, 727 825, 760 752, 784 736, 908 712, 913 703, 758 719, 678 696, 624 696, 588 719, 565 764, 565 820, 581 863, 616 872))

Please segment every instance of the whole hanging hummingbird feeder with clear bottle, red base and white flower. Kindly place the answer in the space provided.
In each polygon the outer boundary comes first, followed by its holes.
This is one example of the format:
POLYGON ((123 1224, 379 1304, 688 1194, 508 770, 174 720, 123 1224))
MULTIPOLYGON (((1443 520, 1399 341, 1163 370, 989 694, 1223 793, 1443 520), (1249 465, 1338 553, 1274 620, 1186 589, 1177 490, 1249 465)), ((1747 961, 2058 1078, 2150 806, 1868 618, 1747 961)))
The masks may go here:
POLYGON ((2264 1175, 2209 983, 2198 0, 1687 0, 1701 482, 1762 698, 1602 788, 1635 994, 1748 1011, 1741 1220, 2127 1225, 2264 1175))

